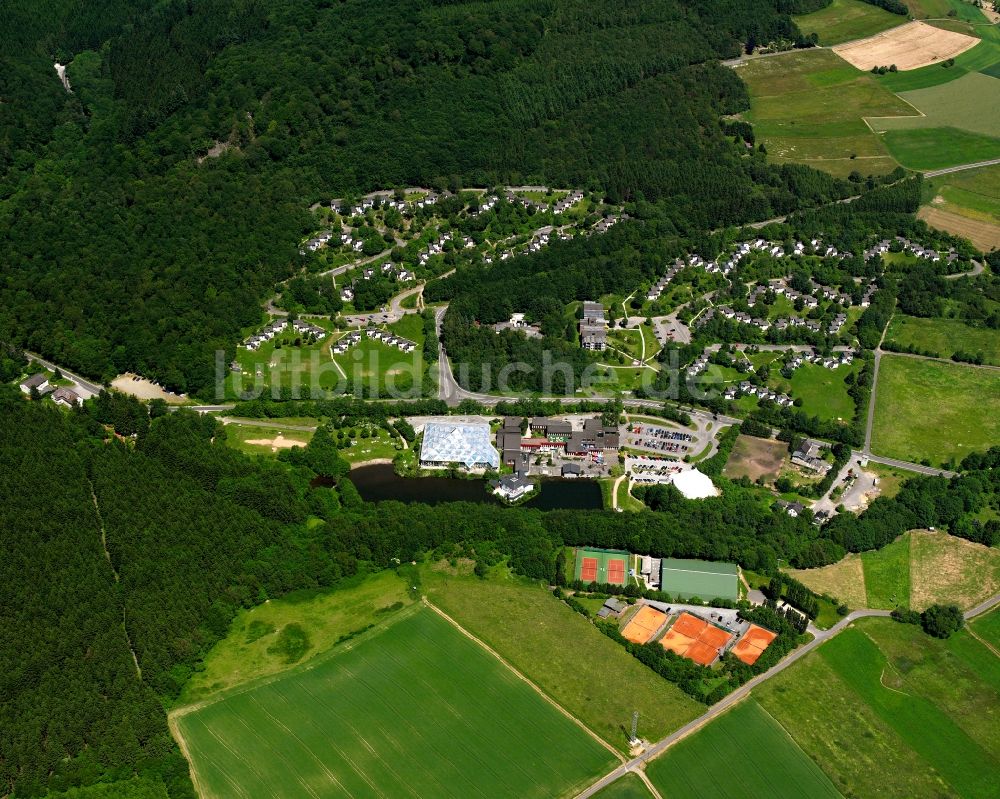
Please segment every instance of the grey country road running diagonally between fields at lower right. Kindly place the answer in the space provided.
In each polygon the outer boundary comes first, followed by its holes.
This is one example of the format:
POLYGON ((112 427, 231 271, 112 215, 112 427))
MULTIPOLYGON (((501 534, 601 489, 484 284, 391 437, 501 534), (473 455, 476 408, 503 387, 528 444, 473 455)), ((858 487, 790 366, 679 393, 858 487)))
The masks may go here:
MULTIPOLYGON (((994 594, 992 597, 976 605, 971 610, 966 611, 964 614, 965 619, 969 620, 974 618, 975 616, 981 615, 982 613, 985 613, 986 611, 992 609, 998 604, 1000 604, 1000 594, 994 594)), ((650 760, 659 757, 661 754, 663 754, 667 749, 676 744, 678 741, 686 738, 688 735, 691 735, 691 733, 701 729, 703 726, 705 726, 705 724, 710 722, 712 719, 725 713, 737 702, 740 702, 741 700, 745 699, 750 694, 750 692, 758 685, 760 685, 762 682, 764 682, 765 680, 769 680, 771 677, 774 677, 777 674, 780 674, 789 666, 791 666, 793 663, 798 662, 803 657, 808 655, 810 652, 815 650, 818 646, 820 646, 826 641, 829 641, 838 633, 842 632, 857 619, 867 618, 867 617, 886 618, 890 615, 891 614, 888 610, 874 610, 871 608, 863 608, 860 610, 852 611, 851 613, 847 614, 843 619, 841 619, 839 622, 833 625, 833 627, 831 627, 829 630, 820 630, 813 627, 810 624, 809 631, 813 634, 814 637, 813 640, 810 641, 808 644, 799 647, 790 655, 788 655, 788 657, 782 660, 780 663, 775 664, 763 674, 759 674, 749 682, 737 688, 735 691, 729 694, 729 696, 725 697, 716 704, 712 705, 712 707, 706 710, 698 718, 688 722, 679 730, 670 733, 670 735, 666 736, 665 738, 660 739, 638 757, 632 758, 627 763, 623 763, 613 771, 610 771, 607 774, 605 774, 603 777, 601 777, 601 779, 597 780, 595 783, 590 785, 586 790, 578 793, 576 795, 576 799, 587 799, 588 797, 593 796, 594 794, 606 788, 615 780, 625 776, 625 774, 629 772, 634 772, 636 774, 641 773, 645 764, 648 763, 650 760)))

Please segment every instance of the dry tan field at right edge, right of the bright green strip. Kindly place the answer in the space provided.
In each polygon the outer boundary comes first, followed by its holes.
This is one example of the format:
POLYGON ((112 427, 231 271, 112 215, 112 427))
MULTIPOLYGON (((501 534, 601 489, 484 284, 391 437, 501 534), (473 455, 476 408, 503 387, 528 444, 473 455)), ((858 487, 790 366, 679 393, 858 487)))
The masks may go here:
POLYGON ((1000 550, 940 531, 910 534, 910 607, 914 610, 935 602, 953 602, 965 610, 997 591, 1000 550))

